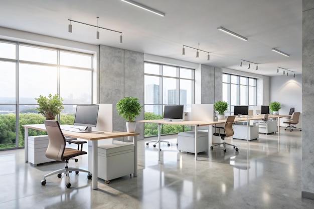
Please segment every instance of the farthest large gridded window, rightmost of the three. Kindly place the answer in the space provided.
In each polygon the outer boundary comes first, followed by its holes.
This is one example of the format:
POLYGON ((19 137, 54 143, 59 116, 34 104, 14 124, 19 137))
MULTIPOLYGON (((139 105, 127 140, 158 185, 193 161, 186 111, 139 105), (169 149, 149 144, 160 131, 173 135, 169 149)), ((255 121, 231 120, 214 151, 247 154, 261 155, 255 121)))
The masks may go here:
POLYGON ((228 103, 225 115, 233 115, 235 105, 256 106, 256 79, 222 74, 222 98, 228 103))

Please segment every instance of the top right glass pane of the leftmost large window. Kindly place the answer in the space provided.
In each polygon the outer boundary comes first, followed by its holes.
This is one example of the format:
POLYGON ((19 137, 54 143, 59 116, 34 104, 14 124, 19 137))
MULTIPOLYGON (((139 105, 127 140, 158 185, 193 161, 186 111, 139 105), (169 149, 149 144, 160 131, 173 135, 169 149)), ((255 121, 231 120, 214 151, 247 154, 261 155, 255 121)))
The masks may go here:
POLYGON ((91 55, 75 54, 70 52, 60 52, 60 65, 92 68, 91 55))

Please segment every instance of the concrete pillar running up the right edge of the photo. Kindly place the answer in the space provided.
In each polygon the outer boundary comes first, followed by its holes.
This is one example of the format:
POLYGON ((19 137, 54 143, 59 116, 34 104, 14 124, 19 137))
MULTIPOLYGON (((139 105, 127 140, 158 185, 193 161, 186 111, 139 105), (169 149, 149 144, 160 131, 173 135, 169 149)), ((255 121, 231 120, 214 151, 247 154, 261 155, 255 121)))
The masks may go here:
POLYGON ((314 1, 303 0, 302 26, 302 197, 314 199, 314 1))

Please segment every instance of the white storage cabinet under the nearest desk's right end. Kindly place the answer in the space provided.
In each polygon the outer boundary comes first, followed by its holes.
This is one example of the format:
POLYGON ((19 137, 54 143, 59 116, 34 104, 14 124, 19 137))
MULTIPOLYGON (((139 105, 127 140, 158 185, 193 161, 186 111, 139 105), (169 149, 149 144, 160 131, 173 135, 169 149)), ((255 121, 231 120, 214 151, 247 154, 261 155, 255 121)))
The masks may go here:
POLYGON ((106 181, 134 173, 134 144, 113 140, 98 146, 98 177, 106 181))

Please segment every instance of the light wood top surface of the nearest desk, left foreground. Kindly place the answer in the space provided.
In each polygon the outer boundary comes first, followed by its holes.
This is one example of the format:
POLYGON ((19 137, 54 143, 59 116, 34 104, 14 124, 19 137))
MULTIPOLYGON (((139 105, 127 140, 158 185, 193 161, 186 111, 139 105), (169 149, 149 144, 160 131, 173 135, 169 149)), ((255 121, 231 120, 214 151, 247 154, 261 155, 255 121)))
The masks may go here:
MULTIPOLYGON (((30 125, 22 125, 22 126, 26 128, 46 131, 46 127, 44 124, 30 124, 30 125)), ((110 139, 110 138, 119 138, 119 137, 124 137, 124 136, 139 135, 139 133, 128 133, 128 132, 119 132, 119 131, 114 131, 114 132, 101 131, 101 132, 104 132, 104 133, 78 133, 78 132, 73 132, 73 131, 62 130, 62 133, 66 136, 71 136, 71 137, 81 138, 81 139, 86 139, 86 140, 91 140, 91 141, 99 140, 99 139, 110 139)))

